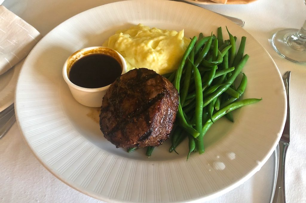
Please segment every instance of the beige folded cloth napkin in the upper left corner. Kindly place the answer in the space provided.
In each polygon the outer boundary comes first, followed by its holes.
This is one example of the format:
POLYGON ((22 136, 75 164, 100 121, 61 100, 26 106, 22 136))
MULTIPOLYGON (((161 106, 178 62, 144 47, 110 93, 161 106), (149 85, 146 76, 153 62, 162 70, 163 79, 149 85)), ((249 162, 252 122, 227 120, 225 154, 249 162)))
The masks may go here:
POLYGON ((39 31, 0 5, 0 75, 26 57, 41 38, 39 31))

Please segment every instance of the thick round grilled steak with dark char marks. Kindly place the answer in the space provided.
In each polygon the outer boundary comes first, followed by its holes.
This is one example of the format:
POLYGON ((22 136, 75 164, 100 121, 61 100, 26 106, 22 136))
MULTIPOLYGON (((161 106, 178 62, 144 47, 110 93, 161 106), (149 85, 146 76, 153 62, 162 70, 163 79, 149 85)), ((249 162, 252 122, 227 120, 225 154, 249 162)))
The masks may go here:
POLYGON ((133 69, 112 83, 103 97, 100 129, 116 147, 159 146, 173 128, 178 92, 147 68, 133 69))

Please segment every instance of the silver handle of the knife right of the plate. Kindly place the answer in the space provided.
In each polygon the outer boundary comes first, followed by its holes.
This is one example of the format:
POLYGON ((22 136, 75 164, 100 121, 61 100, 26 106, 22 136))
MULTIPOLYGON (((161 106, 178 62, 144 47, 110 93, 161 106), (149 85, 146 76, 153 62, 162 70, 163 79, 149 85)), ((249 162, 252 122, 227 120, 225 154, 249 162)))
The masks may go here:
POLYGON ((282 141, 279 142, 279 163, 276 187, 274 191, 273 203, 285 203, 285 158, 288 149, 288 144, 282 141))

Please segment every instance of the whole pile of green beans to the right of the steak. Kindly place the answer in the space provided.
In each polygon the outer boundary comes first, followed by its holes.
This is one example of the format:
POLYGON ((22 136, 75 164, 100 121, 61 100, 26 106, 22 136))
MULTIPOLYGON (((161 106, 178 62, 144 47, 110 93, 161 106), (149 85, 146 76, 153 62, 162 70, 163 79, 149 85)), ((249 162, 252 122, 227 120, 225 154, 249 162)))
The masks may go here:
MULTIPOLYGON (((247 76, 242 68, 248 61, 244 54, 246 37, 236 49, 237 37, 226 28, 229 39, 223 41, 222 28, 217 36, 194 36, 191 39, 175 72, 164 75, 178 90, 179 106, 174 129, 171 132, 169 152, 188 138, 189 152, 204 153, 203 137, 219 118, 225 116, 233 122, 232 111, 261 99, 242 99, 247 86, 247 76), (236 51, 237 50, 237 51, 236 51), (242 74, 239 86, 235 83, 242 74)), ((128 152, 136 148, 129 148, 128 152)), ((146 155, 151 156, 154 147, 147 147, 146 155)))

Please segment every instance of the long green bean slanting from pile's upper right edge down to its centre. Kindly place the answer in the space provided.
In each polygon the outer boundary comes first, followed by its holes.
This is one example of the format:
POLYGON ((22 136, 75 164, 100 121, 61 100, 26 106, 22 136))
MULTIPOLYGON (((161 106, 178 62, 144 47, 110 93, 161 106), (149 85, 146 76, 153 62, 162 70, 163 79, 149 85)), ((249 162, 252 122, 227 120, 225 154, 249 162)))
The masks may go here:
POLYGON ((203 100, 203 107, 209 104, 212 100, 214 100, 216 97, 218 97, 220 94, 222 94, 228 87, 230 87, 230 84, 234 82, 238 74, 241 72, 242 68, 244 67, 245 63, 248 61, 248 54, 244 55, 239 62, 239 64, 236 66, 235 70, 232 72, 233 74, 226 80, 226 85, 219 87, 215 92, 213 92, 209 97, 205 98, 203 100))

